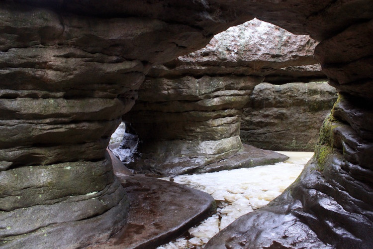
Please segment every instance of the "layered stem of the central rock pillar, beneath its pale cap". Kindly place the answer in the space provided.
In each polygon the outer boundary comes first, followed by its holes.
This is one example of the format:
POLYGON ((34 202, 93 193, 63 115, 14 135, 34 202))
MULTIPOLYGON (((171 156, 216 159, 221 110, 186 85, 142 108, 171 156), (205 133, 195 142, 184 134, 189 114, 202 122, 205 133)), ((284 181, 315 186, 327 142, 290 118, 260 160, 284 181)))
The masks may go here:
POLYGON ((234 155, 242 149, 240 109, 261 81, 248 76, 147 78, 137 104, 123 116, 140 140, 139 157, 128 167, 175 175, 234 155))

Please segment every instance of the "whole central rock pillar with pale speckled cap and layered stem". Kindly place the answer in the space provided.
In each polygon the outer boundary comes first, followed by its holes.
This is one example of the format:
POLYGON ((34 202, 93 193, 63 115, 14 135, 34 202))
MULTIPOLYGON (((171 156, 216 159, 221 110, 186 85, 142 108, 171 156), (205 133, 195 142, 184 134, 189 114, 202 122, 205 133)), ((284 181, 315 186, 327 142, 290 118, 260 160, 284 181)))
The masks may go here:
POLYGON ((115 153, 126 163, 133 159, 127 166, 135 171, 163 175, 285 158, 269 153, 260 160, 233 160, 245 150, 239 137, 242 108, 264 75, 283 67, 313 65, 316 44, 307 35, 293 35, 254 19, 215 35, 196 52, 154 66, 134 108, 122 118, 139 137, 137 157, 115 153))

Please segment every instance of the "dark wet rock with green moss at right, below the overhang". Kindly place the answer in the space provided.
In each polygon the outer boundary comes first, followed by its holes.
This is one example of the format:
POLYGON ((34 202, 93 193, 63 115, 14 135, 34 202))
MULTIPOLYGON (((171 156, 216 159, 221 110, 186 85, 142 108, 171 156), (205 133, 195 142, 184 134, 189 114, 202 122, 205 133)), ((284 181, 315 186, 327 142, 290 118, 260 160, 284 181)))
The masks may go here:
POLYGON ((372 104, 341 93, 300 177, 205 248, 372 248, 372 104))

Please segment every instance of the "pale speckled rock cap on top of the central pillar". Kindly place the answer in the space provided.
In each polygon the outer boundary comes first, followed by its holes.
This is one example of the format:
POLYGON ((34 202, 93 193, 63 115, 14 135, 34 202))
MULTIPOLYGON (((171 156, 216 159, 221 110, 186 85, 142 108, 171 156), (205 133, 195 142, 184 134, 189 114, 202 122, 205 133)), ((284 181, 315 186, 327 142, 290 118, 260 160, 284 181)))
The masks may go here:
POLYGON ((264 76, 281 68, 316 64, 313 51, 317 44, 308 35, 294 35, 253 19, 215 35, 198 51, 154 66, 148 76, 264 76))

